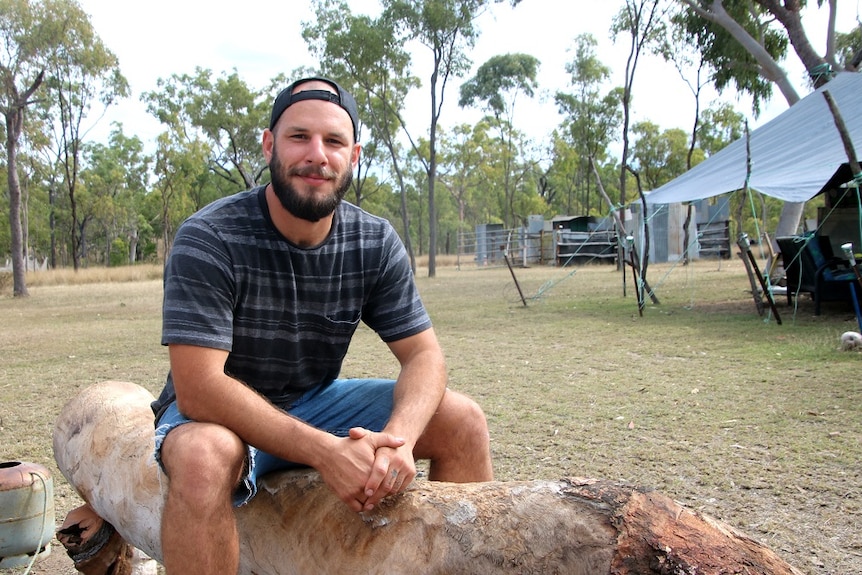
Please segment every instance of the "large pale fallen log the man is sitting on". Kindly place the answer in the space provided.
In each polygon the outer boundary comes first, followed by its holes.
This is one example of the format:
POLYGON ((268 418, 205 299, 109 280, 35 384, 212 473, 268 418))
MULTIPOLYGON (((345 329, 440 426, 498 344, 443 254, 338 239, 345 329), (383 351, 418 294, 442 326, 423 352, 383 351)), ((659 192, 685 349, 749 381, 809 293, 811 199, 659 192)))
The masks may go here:
MULTIPOLYGON (((83 390, 54 431, 60 471, 130 544, 160 559, 152 396, 83 390)), ((416 481, 351 512, 313 470, 275 473, 236 510, 241 573, 800 575, 740 531, 648 489, 608 481, 416 481)))

